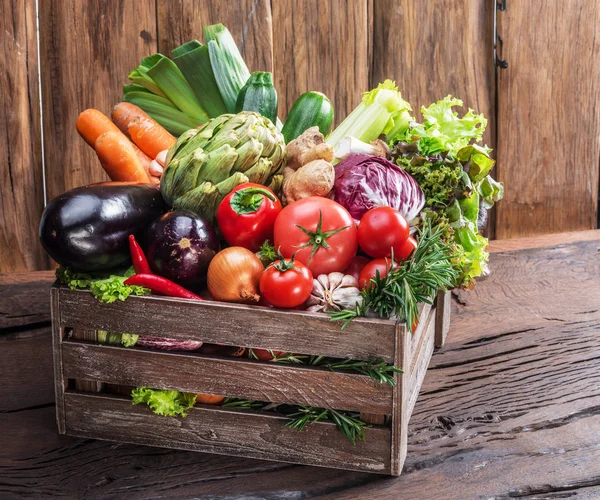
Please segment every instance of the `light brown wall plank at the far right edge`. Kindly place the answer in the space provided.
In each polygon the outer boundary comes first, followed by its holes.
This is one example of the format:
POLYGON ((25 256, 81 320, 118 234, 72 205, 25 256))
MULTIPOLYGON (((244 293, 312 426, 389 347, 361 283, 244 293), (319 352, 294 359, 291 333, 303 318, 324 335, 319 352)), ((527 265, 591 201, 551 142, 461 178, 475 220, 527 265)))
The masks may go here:
POLYGON ((598 4, 519 2, 498 14, 498 25, 508 68, 498 78, 498 177, 507 189, 497 237, 592 229, 600 161, 598 4))

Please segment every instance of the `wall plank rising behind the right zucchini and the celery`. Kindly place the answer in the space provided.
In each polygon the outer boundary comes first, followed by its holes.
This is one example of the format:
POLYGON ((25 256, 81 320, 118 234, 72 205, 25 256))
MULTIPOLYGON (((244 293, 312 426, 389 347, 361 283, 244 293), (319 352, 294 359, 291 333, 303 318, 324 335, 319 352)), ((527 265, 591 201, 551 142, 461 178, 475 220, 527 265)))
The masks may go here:
MULTIPOLYGON (((279 114, 317 90, 334 106, 335 124, 369 88, 371 2, 278 0, 273 6, 273 61, 279 114)), ((282 118, 283 119, 283 118, 282 118)))

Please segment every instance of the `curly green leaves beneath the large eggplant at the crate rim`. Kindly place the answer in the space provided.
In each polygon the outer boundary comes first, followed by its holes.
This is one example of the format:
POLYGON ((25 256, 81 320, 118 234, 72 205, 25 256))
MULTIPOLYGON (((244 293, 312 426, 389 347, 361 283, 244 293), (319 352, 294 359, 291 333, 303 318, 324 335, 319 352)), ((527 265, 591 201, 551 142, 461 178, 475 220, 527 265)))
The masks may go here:
POLYGON ((92 295, 100 302, 110 304, 115 300, 125 300, 130 295, 149 295, 150 289, 143 286, 130 286, 125 280, 133 276, 133 267, 123 274, 102 275, 98 273, 86 274, 71 271, 65 267, 56 270, 56 279, 68 286, 71 290, 90 290, 92 295))

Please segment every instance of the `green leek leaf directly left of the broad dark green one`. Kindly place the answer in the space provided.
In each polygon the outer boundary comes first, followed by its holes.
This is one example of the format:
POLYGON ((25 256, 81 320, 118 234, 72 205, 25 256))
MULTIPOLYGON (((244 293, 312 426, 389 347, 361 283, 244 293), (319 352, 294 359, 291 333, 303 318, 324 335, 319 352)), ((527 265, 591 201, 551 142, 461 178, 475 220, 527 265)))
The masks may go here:
POLYGON ((196 99, 192 87, 171 59, 161 55, 156 64, 148 70, 148 76, 181 111, 201 123, 208 121, 208 115, 196 99))

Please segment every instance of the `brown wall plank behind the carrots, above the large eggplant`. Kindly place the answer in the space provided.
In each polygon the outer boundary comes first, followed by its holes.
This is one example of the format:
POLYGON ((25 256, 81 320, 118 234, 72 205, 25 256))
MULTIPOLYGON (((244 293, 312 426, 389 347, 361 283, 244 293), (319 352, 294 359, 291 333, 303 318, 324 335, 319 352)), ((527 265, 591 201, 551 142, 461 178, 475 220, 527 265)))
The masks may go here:
POLYGON ((154 0, 40 2, 40 47, 48 199, 107 180, 75 130, 81 111, 109 114, 127 75, 156 52, 154 0))

